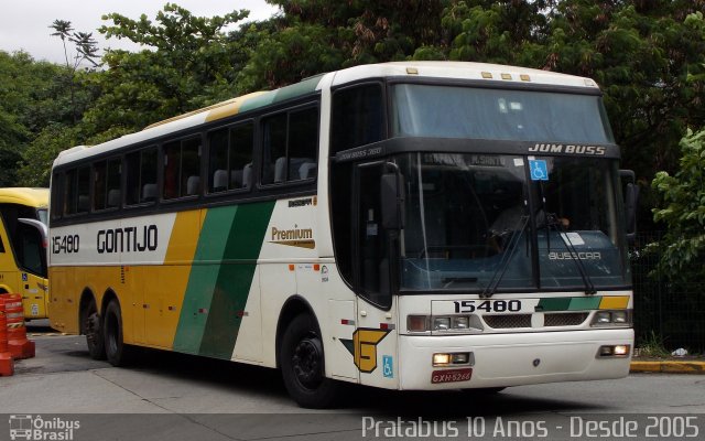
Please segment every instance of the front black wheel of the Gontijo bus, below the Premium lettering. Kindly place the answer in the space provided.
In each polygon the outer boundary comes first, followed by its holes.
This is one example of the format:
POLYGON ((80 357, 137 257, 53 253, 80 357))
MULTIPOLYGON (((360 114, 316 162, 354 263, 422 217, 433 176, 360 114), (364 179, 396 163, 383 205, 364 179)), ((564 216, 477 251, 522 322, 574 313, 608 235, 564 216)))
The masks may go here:
POLYGON ((299 406, 322 409, 334 405, 339 384, 325 377, 321 331, 311 315, 297 315, 286 326, 279 359, 284 386, 299 406))

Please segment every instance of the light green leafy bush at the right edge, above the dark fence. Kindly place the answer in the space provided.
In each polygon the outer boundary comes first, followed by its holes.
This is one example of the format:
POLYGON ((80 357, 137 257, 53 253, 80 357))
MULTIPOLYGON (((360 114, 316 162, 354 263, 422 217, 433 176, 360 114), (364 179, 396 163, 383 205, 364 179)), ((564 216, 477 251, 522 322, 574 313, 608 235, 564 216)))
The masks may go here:
POLYGON ((660 195, 653 219, 668 229, 659 270, 674 281, 705 278, 705 130, 681 140, 680 169, 675 175, 657 173, 652 186, 660 195))

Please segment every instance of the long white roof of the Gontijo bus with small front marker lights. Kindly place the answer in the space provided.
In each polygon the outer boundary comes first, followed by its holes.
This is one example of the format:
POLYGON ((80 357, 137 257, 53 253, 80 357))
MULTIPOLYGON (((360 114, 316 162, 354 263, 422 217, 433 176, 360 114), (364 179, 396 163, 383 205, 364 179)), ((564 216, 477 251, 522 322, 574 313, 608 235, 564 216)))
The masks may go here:
POLYGON ((241 97, 232 98, 203 109, 194 110, 182 116, 166 119, 148 126, 144 130, 126 135, 121 138, 104 142, 94 147, 78 146, 64 150, 54 161, 54 166, 66 162, 91 157, 102 152, 119 149, 124 146, 149 142, 162 136, 175 133, 184 129, 205 122, 216 121, 249 110, 254 110, 288 99, 302 97, 319 90, 322 84, 332 87, 365 78, 382 77, 429 77, 494 82, 501 84, 540 84, 550 86, 579 87, 597 90, 597 84, 585 77, 558 74, 549 71, 532 69, 525 67, 505 66, 498 64, 468 63, 468 62, 393 62, 381 64, 368 64, 349 67, 343 71, 316 75, 291 86, 270 92, 257 92, 241 97))

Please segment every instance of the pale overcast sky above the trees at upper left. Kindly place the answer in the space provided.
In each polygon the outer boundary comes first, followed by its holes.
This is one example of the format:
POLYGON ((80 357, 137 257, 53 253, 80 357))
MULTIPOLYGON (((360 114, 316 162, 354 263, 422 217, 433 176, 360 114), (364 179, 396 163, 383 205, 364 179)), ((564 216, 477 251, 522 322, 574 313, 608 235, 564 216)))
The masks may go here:
POLYGON ((58 19, 70 21, 75 31, 93 32, 101 50, 139 51, 138 45, 124 39, 105 40, 98 28, 110 25, 112 21, 102 21, 101 15, 118 12, 137 20, 144 13, 153 20, 167 2, 176 3, 197 17, 224 15, 248 9, 250 15, 247 20, 264 20, 278 12, 264 0, 0 0, 0 50, 9 53, 23 50, 37 61, 65 63, 62 41, 51 36, 53 30, 48 28, 58 19))

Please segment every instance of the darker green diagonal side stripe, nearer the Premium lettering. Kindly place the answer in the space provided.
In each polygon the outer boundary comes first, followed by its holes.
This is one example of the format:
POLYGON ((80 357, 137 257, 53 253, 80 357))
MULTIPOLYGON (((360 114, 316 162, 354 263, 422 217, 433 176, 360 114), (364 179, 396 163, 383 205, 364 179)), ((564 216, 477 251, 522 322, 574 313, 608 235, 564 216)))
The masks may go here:
POLYGON ((274 202, 240 205, 228 235, 200 355, 229 359, 242 323, 274 202))

